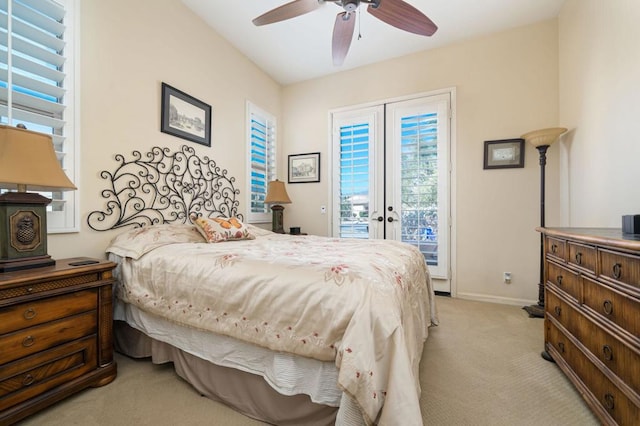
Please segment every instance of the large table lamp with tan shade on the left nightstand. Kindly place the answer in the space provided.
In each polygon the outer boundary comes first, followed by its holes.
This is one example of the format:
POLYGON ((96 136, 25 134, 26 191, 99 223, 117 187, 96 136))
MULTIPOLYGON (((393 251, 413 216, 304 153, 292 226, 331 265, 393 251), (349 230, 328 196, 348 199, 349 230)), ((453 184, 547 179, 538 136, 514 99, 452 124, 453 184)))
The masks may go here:
POLYGON ((32 191, 77 189, 58 162, 50 135, 0 125, 0 272, 50 266, 47 211, 32 191))

